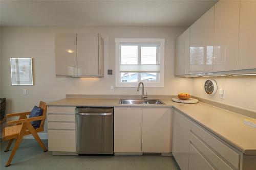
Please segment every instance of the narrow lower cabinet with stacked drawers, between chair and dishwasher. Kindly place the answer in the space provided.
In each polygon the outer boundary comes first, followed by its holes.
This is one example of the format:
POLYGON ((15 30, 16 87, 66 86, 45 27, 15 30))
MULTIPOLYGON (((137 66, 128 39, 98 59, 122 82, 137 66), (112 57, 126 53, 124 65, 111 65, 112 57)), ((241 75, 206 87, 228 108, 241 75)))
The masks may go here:
POLYGON ((76 152, 75 107, 48 107, 48 150, 76 152))

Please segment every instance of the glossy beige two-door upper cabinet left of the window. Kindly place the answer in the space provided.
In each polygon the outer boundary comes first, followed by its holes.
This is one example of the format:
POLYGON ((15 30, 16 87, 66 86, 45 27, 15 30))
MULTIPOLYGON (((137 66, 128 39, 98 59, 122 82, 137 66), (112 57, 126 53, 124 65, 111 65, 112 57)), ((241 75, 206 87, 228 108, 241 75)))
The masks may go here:
POLYGON ((103 77, 104 41, 95 33, 55 35, 57 77, 103 77))

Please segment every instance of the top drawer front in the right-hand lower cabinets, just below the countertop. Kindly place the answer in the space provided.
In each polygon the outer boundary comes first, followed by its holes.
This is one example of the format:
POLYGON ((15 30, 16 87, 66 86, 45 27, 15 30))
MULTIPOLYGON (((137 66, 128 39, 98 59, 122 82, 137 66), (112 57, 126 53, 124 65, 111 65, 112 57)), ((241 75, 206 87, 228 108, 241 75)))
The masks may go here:
POLYGON ((231 163, 234 167, 239 169, 240 155, 237 152, 234 152, 232 149, 227 147, 227 145, 222 143, 220 140, 193 122, 190 123, 190 130, 199 138, 201 138, 205 143, 207 143, 212 149, 214 149, 219 155, 231 163))

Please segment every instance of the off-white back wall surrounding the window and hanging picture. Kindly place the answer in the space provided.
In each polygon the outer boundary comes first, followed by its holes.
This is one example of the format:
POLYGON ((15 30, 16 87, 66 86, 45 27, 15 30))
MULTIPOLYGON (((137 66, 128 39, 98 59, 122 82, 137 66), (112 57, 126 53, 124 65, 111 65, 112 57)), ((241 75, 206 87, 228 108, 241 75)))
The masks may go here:
POLYGON ((174 40, 185 28, 177 27, 3 27, 2 96, 7 98, 7 113, 29 111, 40 100, 56 101, 71 94, 138 94, 136 88, 115 88, 115 76, 72 79, 55 77, 54 33, 100 33, 106 39, 108 68, 115 70, 114 38, 165 38, 164 87, 145 88, 148 94, 190 92, 192 80, 174 77, 174 40), (33 58, 33 86, 12 86, 10 58, 33 58), (28 95, 23 95, 27 89, 28 95))

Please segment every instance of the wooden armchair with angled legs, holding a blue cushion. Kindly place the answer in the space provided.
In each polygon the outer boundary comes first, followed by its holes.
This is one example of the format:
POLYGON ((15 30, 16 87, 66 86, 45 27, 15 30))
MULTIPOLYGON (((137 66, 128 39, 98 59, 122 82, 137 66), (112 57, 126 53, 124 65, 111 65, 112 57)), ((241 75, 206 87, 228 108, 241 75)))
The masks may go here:
POLYGON ((8 122, 8 125, 13 125, 13 124, 16 124, 16 125, 5 127, 3 129, 3 140, 10 140, 5 152, 9 151, 11 144, 13 142, 13 139, 16 139, 15 145, 12 149, 12 153, 11 153, 7 163, 5 164, 5 166, 11 165, 11 161, 18 149, 18 145, 19 145, 20 141, 22 141, 23 136, 25 136, 25 135, 32 134, 33 137, 36 139, 36 141, 39 143, 42 150, 44 150, 44 152, 47 152, 47 149, 46 149, 44 143, 42 143, 40 137, 37 134, 37 132, 44 131, 44 123, 45 123, 46 111, 47 111, 46 103, 40 102, 39 108, 42 109, 42 115, 37 116, 37 117, 27 118, 26 115, 29 115, 30 112, 14 113, 14 114, 6 115, 6 117, 19 116, 19 119, 12 120, 12 121, 8 122), (37 128, 37 129, 34 129, 32 124, 30 123, 35 120, 41 120, 41 124, 40 124, 39 128, 37 128))

